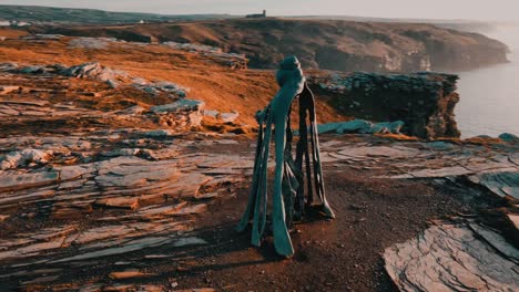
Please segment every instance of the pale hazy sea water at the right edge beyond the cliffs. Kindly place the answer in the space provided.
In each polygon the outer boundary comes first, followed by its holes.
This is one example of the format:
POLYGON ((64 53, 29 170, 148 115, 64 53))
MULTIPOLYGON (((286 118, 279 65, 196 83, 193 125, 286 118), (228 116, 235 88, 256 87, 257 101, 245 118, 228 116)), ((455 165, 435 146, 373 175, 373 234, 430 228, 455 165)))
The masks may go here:
POLYGON ((519 27, 499 27, 485 34, 509 46, 511 62, 458 73, 458 127, 464 138, 519 135, 519 27))

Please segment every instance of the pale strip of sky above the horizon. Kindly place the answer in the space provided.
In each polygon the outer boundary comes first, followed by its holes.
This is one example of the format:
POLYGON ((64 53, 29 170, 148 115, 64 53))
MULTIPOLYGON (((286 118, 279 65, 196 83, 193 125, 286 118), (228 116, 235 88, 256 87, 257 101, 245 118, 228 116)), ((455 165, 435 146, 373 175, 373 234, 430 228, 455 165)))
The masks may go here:
POLYGON ((0 0, 0 4, 164 14, 256 13, 516 21, 519 0, 0 0))

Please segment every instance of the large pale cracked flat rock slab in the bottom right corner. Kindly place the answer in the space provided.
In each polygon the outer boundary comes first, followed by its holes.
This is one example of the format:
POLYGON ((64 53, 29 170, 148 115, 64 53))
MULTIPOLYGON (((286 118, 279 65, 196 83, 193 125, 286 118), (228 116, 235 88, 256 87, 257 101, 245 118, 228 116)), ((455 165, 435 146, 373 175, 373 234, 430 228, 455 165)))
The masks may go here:
POLYGON ((400 291, 518 291, 518 251, 500 234, 482 230, 434 226, 387 248, 386 271, 400 291))

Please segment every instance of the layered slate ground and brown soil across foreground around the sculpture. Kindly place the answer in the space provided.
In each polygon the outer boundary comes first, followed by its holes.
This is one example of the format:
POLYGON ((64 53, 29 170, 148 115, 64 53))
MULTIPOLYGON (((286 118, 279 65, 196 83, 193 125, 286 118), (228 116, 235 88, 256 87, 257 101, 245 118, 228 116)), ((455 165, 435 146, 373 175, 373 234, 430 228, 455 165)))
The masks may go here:
POLYGON ((374 291, 394 290, 390 279, 405 291, 518 288, 517 229, 500 221, 518 198, 507 145, 325 136, 338 218, 297 225, 296 255, 283 260, 233 231, 251 140, 112 129, 0 143, 24 157, 0 178, 6 290, 374 291), (416 234, 419 248, 406 242, 416 234), (435 253, 416 258, 425 247, 435 253))

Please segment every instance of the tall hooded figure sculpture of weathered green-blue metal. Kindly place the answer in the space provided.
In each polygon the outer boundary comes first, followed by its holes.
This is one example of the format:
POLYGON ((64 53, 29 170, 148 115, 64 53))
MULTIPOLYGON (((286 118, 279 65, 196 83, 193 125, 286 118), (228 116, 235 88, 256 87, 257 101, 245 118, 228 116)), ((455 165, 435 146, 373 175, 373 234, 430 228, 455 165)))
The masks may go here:
POLYGON ((268 148, 272 125, 274 124, 276 167, 272 202, 272 230, 276 252, 291 257, 294 254, 294 248, 288 229, 294 220, 302 220, 305 211, 314 206, 314 192, 320 200, 322 211, 330 218, 335 216, 325 196, 314 95, 306 84, 297 58, 288 56, 281 63, 276 80, 281 90, 265 109, 256 113, 260 133, 253 182, 247 208, 236 229, 244 231, 252 219, 252 244, 260 247, 267 221, 268 148), (294 160, 291 105, 297 96, 299 97, 299 140, 294 160))

